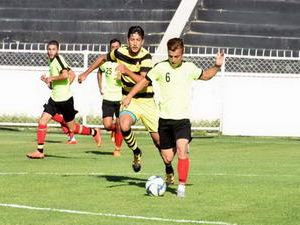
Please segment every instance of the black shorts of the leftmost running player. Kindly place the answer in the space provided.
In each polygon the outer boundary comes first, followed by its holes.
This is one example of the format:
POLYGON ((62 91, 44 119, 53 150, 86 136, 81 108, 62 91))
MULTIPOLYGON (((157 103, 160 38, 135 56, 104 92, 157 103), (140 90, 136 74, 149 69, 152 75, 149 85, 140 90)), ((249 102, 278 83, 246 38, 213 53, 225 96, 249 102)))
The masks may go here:
POLYGON ((48 103, 44 105, 44 112, 54 116, 56 113, 62 114, 66 122, 74 120, 77 110, 74 109, 74 99, 69 98, 67 101, 55 102, 49 98, 48 103))

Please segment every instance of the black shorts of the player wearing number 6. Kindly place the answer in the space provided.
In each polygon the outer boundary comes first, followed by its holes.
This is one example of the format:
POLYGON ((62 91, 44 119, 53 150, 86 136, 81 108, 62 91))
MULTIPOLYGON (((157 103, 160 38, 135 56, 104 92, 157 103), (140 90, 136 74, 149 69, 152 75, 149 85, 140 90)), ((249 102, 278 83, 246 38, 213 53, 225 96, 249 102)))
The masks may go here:
POLYGON ((176 147, 176 140, 192 140, 191 122, 189 119, 171 120, 159 118, 158 133, 160 140, 160 149, 176 147))

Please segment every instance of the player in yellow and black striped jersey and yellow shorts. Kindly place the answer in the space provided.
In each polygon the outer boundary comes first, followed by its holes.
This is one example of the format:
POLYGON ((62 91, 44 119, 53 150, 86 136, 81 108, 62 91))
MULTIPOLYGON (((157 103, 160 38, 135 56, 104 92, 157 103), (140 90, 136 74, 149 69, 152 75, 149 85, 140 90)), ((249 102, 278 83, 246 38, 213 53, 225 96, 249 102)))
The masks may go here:
MULTIPOLYGON (((113 60, 120 64, 117 70, 121 73, 122 94, 127 95, 131 88, 152 68, 152 60, 150 53, 143 48, 144 30, 140 26, 132 26, 127 34, 127 46, 120 47, 111 51, 106 55, 100 55, 97 60, 78 77, 78 81, 82 82, 86 77, 105 60, 113 60)), ((158 109, 154 102, 154 92, 151 84, 139 91, 132 100, 132 104, 128 107, 121 108, 120 125, 121 131, 127 146, 133 151, 132 168, 134 172, 141 170, 142 151, 138 147, 131 126, 141 119, 144 126, 151 135, 155 146, 159 149, 158 136, 158 109)), ((174 173, 172 164, 166 164, 166 173, 170 176, 174 173)))

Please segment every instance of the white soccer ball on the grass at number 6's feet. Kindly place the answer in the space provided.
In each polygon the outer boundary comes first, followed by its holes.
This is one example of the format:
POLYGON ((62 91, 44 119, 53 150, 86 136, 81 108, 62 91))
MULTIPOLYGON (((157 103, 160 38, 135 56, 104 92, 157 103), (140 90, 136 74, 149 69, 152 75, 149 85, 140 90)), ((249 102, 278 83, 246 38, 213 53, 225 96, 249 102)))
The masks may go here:
POLYGON ((146 192, 151 196, 162 196, 166 192, 167 185, 160 176, 151 176, 146 182, 146 192))

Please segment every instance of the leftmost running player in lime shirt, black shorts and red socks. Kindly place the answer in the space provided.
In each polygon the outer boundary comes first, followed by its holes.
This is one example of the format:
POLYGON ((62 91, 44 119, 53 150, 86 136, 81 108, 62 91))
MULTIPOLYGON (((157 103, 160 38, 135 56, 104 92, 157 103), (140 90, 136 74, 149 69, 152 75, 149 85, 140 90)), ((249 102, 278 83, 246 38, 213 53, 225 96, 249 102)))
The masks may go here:
POLYGON ((42 159, 44 155, 44 142, 47 134, 47 123, 57 113, 63 115, 71 134, 80 133, 83 135, 92 135, 97 146, 101 145, 100 130, 88 128, 85 126, 75 126, 74 118, 77 111, 74 109, 74 100, 70 90, 68 64, 64 58, 58 54, 59 43, 52 40, 47 45, 47 54, 49 58, 49 76, 42 75, 41 80, 48 86, 51 85, 51 97, 44 105, 44 112, 38 121, 37 129, 37 150, 27 154, 31 159, 42 159))

